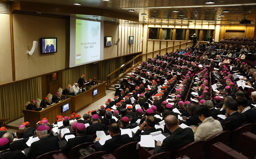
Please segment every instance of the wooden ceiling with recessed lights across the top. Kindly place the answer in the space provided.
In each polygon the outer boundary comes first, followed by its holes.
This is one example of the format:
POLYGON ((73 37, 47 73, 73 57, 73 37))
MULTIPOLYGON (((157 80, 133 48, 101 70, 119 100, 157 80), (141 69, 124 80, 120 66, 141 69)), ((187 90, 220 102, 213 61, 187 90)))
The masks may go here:
POLYGON ((215 0, 214 4, 205 4, 205 1, 209 0, 37 0, 36 2, 41 4, 38 5, 42 6, 37 7, 37 10, 33 9, 34 5, 32 5, 36 4, 35 0, 19 1, 21 6, 23 3, 27 6, 21 7, 20 10, 24 12, 38 11, 44 14, 61 14, 62 16, 69 14, 69 16, 91 17, 92 19, 93 16, 98 16, 99 20, 110 22, 113 22, 112 20, 120 22, 123 19, 139 23, 174 24, 174 22, 177 22, 178 24, 186 25, 188 23, 196 23, 195 20, 203 21, 203 23, 209 20, 212 21, 209 23, 228 24, 230 21, 239 22, 244 18, 253 22, 256 19, 255 0, 215 0), (73 3, 81 3, 81 6, 76 6, 73 3), (28 6, 27 4, 31 5, 28 6), (52 8, 52 11, 48 7, 52 8), (61 12, 63 8, 65 8, 65 11, 61 12), (90 8, 90 12, 88 12, 88 8, 90 8), (58 10, 60 12, 57 12, 58 10), (81 11, 78 12, 78 10, 81 11), (129 12, 129 10, 134 10, 134 12, 129 12), (226 10, 229 13, 223 12, 226 10), (220 17, 220 15, 225 16, 220 17))

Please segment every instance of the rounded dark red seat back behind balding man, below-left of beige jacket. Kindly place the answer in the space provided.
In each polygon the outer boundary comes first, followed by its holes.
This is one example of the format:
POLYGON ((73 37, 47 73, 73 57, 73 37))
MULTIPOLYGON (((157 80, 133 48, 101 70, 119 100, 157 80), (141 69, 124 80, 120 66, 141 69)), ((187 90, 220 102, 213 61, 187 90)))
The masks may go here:
POLYGON ((174 158, 180 157, 182 155, 186 155, 190 158, 199 158, 204 142, 205 141, 203 140, 198 140, 181 147, 176 151, 174 158))

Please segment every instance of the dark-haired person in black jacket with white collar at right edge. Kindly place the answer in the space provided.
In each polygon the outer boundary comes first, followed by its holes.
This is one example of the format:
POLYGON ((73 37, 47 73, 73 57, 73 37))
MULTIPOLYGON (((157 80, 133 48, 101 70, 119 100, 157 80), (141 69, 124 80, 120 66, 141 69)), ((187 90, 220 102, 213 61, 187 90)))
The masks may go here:
POLYGON ((256 123, 256 111, 248 106, 247 99, 244 97, 239 97, 236 99, 236 102, 238 104, 238 112, 246 116, 246 124, 256 123))

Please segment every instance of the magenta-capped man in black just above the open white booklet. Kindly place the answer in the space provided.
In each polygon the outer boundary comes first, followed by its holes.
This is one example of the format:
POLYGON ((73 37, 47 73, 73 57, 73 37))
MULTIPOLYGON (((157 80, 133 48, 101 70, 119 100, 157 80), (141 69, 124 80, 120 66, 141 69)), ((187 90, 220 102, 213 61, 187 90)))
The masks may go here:
POLYGON ((91 117, 91 121, 92 125, 86 128, 86 135, 94 135, 96 134, 96 131, 107 131, 107 126, 99 123, 99 116, 97 114, 94 114, 91 117))

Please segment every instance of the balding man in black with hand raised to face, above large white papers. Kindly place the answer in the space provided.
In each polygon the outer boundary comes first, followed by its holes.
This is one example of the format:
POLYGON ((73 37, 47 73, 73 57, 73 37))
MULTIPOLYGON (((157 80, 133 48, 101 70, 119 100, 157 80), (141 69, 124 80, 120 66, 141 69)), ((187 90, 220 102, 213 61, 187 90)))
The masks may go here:
POLYGON ((158 131, 161 131, 162 133, 164 132, 163 129, 161 129, 161 128, 156 129, 155 125, 156 125, 155 117, 152 115, 147 116, 146 121, 143 124, 141 124, 140 128, 133 135, 132 141, 140 141, 141 135, 149 135, 151 132, 158 132, 158 131), (148 129, 146 129, 146 127, 148 129), (141 132, 143 130, 144 130, 144 132, 141 132))

